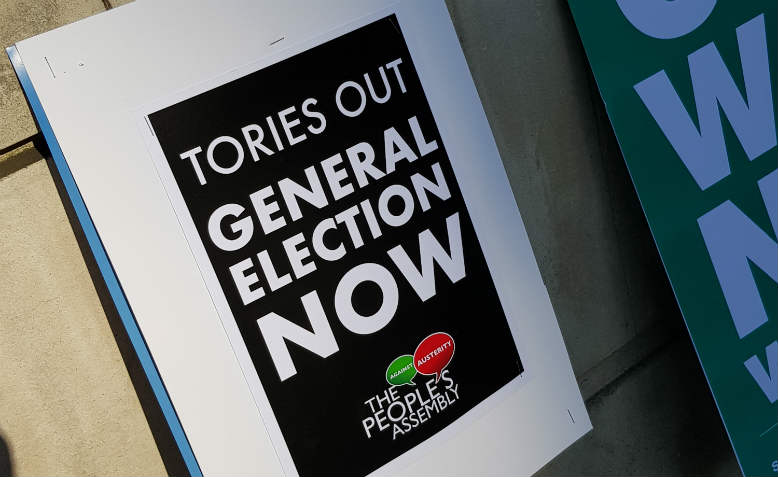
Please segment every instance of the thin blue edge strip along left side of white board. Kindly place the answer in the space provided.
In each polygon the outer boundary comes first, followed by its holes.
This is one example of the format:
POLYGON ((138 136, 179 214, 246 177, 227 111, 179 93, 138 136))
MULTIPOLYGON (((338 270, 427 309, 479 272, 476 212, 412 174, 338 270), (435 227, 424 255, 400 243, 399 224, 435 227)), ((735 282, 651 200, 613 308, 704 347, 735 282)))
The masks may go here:
POLYGON ((6 53, 11 59, 11 64, 16 71, 16 76, 19 78, 19 83, 22 85, 24 94, 27 96, 27 100, 30 102, 30 107, 35 115, 35 119, 38 121, 38 125, 41 128, 43 137, 46 139, 46 143, 49 145, 51 156, 54 159, 54 165, 59 173, 62 182, 67 191, 70 202, 73 205, 73 209, 78 217, 78 222, 84 231, 84 236, 89 243, 89 248, 92 251, 92 255, 97 262, 97 266, 100 269, 100 273, 105 280, 105 284, 111 295, 111 299, 116 306, 116 310, 119 313, 122 324, 127 335, 130 338, 135 353, 138 355, 138 360, 143 367, 146 378, 151 385, 151 389, 154 392, 154 397, 157 399, 162 413, 165 416, 170 431, 173 434, 173 438, 178 445, 178 449, 181 451, 181 456, 184 459, 189 473, 193 477, 201 477, 202 471, 197 464, 197 459, 194 456, 192 447, 189 445, 189 441, 186 438, 184 429, 181 426, 181 421, 178 419, 173 403, 170 401, 170 396, 167 394, 165 385, 162 383, 162 378, 159 375, 154 360, 151 357, 146 341, 143 339, 138 323, 135 321, 135 316, 132 314, 130 305, 127 302, 127 297, 124 296, 124 291, 119 284, 119 279, 116 277, 116 272, 111 265, 108 258, 108 254, 103 247, 103 243, 100 240, 100 236, 97 234, 97 229, 92 222, 92 218, 89 216, 89 211, 84 204, 84 199, 81 197, 81 193, 78 191, 76 181, 73 179, 73 175, 70 173, 70 167, 68 167, 65 161, 65 156, 62 154, 62 149, 59 147, 57 138, 54 136, 54 131, 51 129, 49 119, 46 117, 46 113, 43 110, 38 94, 35 92, 35 87, 30 81, 30 77, 27 74, 27 69, 24 67, 19 51, 16 46, 9 46, 6 48, 6 53))

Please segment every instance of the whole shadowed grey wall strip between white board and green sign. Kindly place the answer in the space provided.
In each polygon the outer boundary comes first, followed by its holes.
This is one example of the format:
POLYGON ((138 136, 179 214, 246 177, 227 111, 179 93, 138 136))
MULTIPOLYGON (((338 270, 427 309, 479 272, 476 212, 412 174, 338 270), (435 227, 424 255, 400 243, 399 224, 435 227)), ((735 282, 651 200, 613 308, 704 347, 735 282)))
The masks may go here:
POLYGON ((738 474, 567 2, 447 4, 594 425, 540 475, 738 474))

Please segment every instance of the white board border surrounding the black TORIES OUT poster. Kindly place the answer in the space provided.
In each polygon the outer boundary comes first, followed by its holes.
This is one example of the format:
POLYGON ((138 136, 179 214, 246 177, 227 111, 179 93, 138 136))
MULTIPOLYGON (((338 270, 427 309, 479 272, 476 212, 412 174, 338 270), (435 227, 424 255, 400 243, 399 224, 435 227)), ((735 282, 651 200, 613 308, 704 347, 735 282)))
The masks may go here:
MULTIPOLYGON (((354 22, 368 23, 388 11, 380 1, 317 2, 299 16, 294 6, 202 2, 184 14, 176 2, 136 2, 18 45, 206 474, 291 469, 283 450, 278 452, 268 437, 277 429, 262 425, 251 377, 237 366, 241 353, 236 358, 229 333, 221 328, 217 307, 148 158, 144 135, 149 131, 142 118, 198 88, 210 89, 302 51, 317 42, 311 38, 338 36, 353 29, 354 22), (263 28, 247 20, 256 18, 263 28), (149 22, 162 25, 164 34, 137 35, 149 22), (224 37, 198 37, 206 26, 221 26, 224 37), (282 37, 273 48, 271 43, 282 37), (254 46, 225 49, 242 43, 254 46), (172 58, 172 52, 178 57, 172 58), (86 67, 79 70, 78 63, 86 67), (145 106, 139 109, 140 104, 145 106), (150 272, 156 279, 148 283, 150 272), (184 298, 188 303, 180 301, 184 298), (186 324, 189 347, 194 343, 204 352, 171 342, 181 327, 175 317, 181 315, 191 318, 186 324), (204 380, 208 389, 203 389, 204 380)), ((404 1, 389 9, 401 22, 528 372, 378 473, 532 473, 591 424, 445 5, 404 1), (456 120, 462 117, 468 120, 456 120)))

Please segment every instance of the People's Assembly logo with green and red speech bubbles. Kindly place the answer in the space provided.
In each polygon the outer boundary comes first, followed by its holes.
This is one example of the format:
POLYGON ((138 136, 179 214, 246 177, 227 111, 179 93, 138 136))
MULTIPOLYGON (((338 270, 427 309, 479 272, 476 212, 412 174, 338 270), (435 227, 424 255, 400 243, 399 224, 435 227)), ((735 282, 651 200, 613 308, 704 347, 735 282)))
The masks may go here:
POLYGON ((392 440, 397 439, 454 405, 459 399, 459 384, 445 369, 453 357, 454 338, 438 332, 424 338, 413 355, 395 358, 386 369, 389 388, 364 403, 370 413, 362 420, 367 438, 391 429, 392 440), (419 374, 434 378, 416 386, 413 379, 419 374), (401 394, 403 385, 408 388, 401 394))

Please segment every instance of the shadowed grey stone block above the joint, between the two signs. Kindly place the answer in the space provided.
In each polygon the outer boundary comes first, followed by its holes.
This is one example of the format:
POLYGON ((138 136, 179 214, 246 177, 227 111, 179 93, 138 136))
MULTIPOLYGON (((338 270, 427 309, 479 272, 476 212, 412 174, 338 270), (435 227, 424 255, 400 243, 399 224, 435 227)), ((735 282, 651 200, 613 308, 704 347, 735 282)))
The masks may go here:
POLYGON ((566 2, 448 4, 580 376, 672 292, 566 2))

